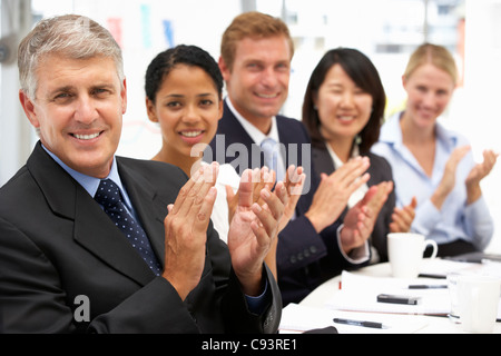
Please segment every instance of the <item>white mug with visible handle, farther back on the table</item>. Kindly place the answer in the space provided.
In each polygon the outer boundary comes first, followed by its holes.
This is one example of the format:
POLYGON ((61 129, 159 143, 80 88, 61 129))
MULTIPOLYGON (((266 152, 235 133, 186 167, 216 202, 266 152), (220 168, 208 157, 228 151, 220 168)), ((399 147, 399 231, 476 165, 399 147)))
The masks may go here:
POLYGON ((423 235, 412 233, 394 233, 387 235, 387 257, 393 277, 416 278, 420 273, 423 253, 426 246, 433 247, 431 258, 435 258, 439 246, 423 235))

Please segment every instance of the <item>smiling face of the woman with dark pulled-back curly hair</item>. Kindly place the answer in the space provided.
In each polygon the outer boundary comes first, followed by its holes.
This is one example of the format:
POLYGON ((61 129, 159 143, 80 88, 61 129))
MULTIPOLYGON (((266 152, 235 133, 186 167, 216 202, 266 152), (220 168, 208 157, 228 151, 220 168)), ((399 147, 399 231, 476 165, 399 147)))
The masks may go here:
MULTIPOLYGON (((161 160, 179 167, 197 160, 217 131, 223 101, 210 76, 199 67, 176 65, 156 93, 155 102, 146 99, 148 117, 159 122, 163 135, 161 160)), ((186 171, 186 170, 185 170, 186 171)))

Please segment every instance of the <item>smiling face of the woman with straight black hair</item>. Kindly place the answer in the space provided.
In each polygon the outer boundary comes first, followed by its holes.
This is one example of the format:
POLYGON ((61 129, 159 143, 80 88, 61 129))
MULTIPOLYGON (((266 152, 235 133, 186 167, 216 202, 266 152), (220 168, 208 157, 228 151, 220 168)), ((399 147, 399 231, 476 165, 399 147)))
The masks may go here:
POLYGON ((314 100, 326 141, 347 140, 365 127, 371 117, 372 96, 356 86, 341 65, 334 65, 325 76, 314 100))

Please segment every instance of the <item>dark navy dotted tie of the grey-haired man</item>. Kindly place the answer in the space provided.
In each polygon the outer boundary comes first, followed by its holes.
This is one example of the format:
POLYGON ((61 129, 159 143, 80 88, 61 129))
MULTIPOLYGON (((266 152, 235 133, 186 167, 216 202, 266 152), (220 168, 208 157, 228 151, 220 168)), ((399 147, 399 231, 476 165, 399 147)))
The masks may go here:
POLYGON ((111 179, 101 180, 95 199, 102 206, 105 212, 115 225, 125 234, 149 268, 159 276, 161 268, 155 257, 148 237, 141 226, 127 210, 121 200, 118 186, 111 179))

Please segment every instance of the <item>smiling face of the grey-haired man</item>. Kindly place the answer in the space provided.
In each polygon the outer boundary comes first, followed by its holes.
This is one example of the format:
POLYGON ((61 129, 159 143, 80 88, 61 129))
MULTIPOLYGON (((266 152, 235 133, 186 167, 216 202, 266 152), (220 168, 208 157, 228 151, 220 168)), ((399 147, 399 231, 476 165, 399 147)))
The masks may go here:
POLYGON ((105 178, 126 111, 126 82, 111 58, 68 59, 48 55, 37 70, 36 100, 21 105, 40 140, 70 168, 105 178))

